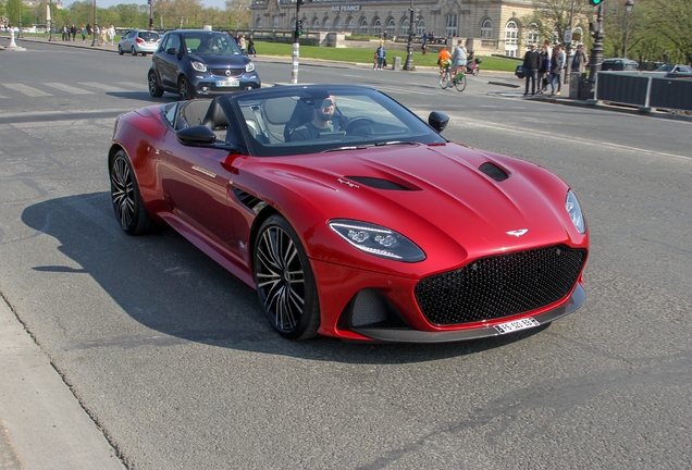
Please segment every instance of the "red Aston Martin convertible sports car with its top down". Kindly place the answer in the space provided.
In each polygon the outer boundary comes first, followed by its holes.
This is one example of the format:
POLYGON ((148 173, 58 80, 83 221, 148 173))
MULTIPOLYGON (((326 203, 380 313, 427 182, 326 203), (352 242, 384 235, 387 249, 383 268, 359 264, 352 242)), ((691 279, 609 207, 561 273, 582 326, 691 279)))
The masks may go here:
POLYGON ((147 107, 115 123, 115 217, 180 232, 292 339, 470 339, 577 310, 589 232, 572 190, 446 140, 447 122, 349 85, 147 107))

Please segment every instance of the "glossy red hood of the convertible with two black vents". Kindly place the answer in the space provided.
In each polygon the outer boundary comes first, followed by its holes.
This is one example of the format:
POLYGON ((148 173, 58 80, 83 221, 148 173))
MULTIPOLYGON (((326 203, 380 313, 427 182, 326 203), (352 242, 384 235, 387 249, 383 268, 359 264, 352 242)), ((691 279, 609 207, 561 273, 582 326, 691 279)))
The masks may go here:
POLYGON ((537 165, 508 157, 446 144, 291 160, 267 170, 283 187, 320 201, 314 207, 324 218, 384 225, 419 245, 430 240, 449 256, 455 250, 466 258, 569 243, 570 235, 581 236, 565 210, 568 186, 537 165))

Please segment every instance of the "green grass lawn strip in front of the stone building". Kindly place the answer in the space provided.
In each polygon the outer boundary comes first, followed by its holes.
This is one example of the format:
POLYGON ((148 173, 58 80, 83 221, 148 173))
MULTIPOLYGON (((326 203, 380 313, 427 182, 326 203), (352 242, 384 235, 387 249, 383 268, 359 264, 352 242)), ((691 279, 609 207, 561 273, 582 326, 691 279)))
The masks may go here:
MULTIPOLYGON (((264 41, 256 41, 255 48, 260 55, 293 55, 293 45, 292 44, 282 44, 282 42, 264 42, 264 41)), ((376 45, 373 42, 372 49, 361 49, 361 48, 346 48, 346 49, 335 49, 335 48, 324 48, 318 46, 300 46, 300 57, 309 58, 309 59, 323 59, 323 60, 332 60, 339 62, 360 62, 360 63, 372 63, 372 55, 374 54, 374 50, 376 49, 376 45)), ((395 55, 401 57, 401 62, 406 61, 406 51, 401 50, 390 50, 387 51, 387 62, 392 63, 393 58, 395 55)), ((517 64, 519 63, 512 59, 504 59, 496 57, 480 57, 483 59, 483 63, 481 63, 481 70, 494 70, 494 71, 503 71, 503 72, 514 72, 517 64)), ((416 65, 429 65, 436 66, 437 65, 437 54, 429 53, 423 55, 420 51, 420 45, 416 45, 416 50, 413 50, 413 63, 416 65)))

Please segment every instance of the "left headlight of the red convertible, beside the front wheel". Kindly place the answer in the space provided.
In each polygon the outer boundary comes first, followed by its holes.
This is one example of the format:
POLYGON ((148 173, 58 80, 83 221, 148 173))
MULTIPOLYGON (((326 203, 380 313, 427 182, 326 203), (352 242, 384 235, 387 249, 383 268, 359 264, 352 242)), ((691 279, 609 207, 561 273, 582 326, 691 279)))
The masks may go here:
POLYGON ((344 219, 332 220, 329 225, 350 245, 367 253, 406 262, 425 259, 423 250, 413 242, 390 228, 344 219))

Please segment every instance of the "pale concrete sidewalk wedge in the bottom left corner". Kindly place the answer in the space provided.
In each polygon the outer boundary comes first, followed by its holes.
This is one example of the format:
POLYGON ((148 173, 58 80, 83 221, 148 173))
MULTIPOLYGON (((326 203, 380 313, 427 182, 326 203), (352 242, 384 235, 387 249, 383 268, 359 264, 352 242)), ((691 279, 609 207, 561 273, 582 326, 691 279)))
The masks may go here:
POLYGON ((124 468, 0 297, 0 469, 124 468))

